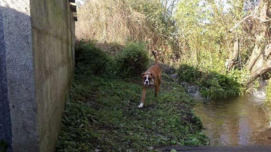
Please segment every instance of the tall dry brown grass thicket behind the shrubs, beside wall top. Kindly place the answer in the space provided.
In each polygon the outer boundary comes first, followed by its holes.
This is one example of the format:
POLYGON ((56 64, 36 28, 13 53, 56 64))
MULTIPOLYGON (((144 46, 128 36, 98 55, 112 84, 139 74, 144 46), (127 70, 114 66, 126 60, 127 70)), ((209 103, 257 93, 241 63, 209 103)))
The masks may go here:
POLYGON ((153 34, 144 14, 134 11, 127 1, 89 0, 78 8, 78 16, 78 38, 124 45, 130 39, 146 41, 153 34))

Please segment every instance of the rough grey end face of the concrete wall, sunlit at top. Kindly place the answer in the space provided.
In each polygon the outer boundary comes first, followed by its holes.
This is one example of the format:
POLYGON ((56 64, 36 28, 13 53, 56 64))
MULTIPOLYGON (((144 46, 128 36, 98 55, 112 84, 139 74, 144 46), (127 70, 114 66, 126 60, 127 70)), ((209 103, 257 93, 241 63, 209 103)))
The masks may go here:
POLYGON ((37 109, 29 1, 1 1, 14 151, 37 151, 37 109), (34 144, 33 144, 34 143, 34 144))

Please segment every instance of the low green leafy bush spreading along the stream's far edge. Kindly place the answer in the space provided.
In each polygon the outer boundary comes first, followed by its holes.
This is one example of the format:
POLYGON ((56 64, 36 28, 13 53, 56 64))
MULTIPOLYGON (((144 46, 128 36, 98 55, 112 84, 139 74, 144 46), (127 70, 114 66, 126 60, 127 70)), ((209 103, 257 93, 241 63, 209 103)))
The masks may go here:
POLYGON ((242 72, 234 70, 228 74, 202 72, 187 64, 180 65, 179 79, 200 86, 200 94, 204 97, 217 98, 242 93, 242 72))

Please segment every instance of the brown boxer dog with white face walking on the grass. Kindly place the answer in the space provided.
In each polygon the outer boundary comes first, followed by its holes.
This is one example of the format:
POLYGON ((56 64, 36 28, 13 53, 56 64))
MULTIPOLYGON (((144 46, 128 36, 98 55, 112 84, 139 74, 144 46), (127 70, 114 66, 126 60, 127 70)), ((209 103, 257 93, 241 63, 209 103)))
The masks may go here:
POLYGON ((142 73, 141 77, 143 78, 143 92, 142 92, 142 99, 141 103, 138 106, 139 108, 142 108, 145 101, 146 96, 146 89, 148 86, 155 86, 155 97, 157 97, 158 90, 161 84, 161 78, 162 78, 162 71, 161 68, 158 65, 158 59, 156 54, 158 54, 156 51, 152 51, 152 54, 155 58, 155 64, 150 67, 146 72, 142 73))

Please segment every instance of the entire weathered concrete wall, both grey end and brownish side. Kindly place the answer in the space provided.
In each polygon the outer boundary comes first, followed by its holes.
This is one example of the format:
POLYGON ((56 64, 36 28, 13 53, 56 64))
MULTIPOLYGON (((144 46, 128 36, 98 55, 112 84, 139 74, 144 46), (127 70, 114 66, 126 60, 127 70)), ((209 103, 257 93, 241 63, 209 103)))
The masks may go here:
POLYGON ((0 140, 54 151, 74 71, 68 0, 0 1, 0 140))

